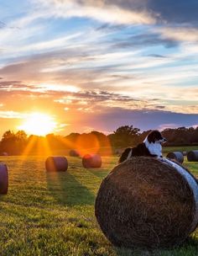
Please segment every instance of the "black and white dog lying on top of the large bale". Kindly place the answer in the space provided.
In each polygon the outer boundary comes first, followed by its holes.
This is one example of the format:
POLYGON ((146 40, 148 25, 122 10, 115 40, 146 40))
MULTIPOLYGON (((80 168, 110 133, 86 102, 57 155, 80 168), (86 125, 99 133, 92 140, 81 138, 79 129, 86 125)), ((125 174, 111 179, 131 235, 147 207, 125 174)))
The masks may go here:
POLYGON ((137 147, 128 147, 122 152, 119 163, 130 157, 162 157, 162 143, 167 141, 159 131, 151 131, 137 147))

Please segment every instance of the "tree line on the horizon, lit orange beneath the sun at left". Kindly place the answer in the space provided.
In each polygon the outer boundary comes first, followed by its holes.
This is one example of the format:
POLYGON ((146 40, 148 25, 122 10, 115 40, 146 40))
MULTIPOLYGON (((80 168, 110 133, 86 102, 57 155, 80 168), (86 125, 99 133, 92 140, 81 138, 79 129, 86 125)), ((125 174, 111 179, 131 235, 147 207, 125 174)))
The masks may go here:
MULTIPOLYGON (((63 152, 70 149, 92 150, 103 153, 119 148, 134 147, 142 142, 150 131, 141 132, 133 125, 123 125, 105 135, 99 131, 90 133, 70 133, 68 136, 48 134, 46 136, 27 136, 24 131, 6 131, 0 141, 1 155, 46 154, 63 152)), ((198 145, 198 126, 196 128, 167 128, 162 131, 168 140, 165 146, 198 145)))

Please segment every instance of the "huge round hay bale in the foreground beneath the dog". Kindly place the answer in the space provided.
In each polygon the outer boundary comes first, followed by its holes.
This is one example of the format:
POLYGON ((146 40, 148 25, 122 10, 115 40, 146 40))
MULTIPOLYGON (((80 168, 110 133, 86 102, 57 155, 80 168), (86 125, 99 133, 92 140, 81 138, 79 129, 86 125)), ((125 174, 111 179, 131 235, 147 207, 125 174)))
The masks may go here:
POLYGON ((195 230, 198 184, 175 165, 180 172, 154 157, 132 157, 103 179, 95 215, 115 246, 169 248, 195 230))

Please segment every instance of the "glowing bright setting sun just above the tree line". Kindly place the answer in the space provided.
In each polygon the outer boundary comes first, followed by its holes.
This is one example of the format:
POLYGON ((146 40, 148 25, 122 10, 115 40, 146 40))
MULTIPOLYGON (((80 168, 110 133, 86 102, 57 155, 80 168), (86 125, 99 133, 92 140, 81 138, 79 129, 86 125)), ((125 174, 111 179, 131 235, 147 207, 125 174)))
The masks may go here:
POLYGON ((24 120, 23 124, 18 126, 29 135, 44 136, 55 130, 56 122, 50 115, 43 113, 32 113, 24 120))

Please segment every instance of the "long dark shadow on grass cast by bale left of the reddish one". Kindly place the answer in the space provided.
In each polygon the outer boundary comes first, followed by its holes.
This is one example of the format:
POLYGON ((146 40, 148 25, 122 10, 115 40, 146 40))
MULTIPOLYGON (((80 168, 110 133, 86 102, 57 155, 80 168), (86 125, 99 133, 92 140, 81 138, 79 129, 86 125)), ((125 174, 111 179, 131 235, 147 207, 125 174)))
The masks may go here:
POLYGON ((50 194, 60 205, 94 205, 95 195, 70 173, 46 173, 50 194))

